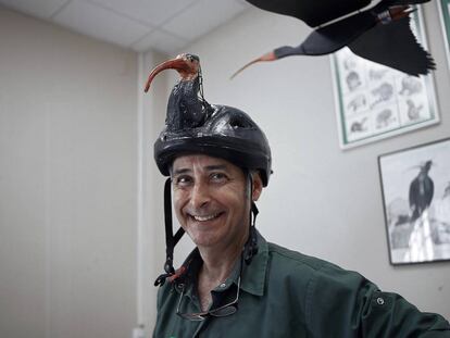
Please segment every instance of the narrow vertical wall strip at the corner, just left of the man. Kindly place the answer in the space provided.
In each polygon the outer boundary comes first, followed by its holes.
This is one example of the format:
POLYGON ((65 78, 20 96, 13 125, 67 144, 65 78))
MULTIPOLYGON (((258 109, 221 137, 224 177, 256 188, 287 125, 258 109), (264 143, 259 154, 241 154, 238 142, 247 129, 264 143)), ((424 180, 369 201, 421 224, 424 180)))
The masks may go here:
MULTIPOLYGON (((140 314, 139 323, 143 324, 147 336, 154 327, 157 291, 153 286, 157 277, 163 273, 165 262, 165 235, 163 213, 164 177, 158 171, 153 160, 153 143, 158 138, 165 120, 166 108, 166 73, 161 73, 152 83, 148 93, 143 87, 150 71, 167 59, 155 52, 141 55, 139 66, 138 96, 139 96, 139 179, 140 191, 139 210, 140 222, 140 314)), ((146 337, 147 337, 146 336, 146 337)))

